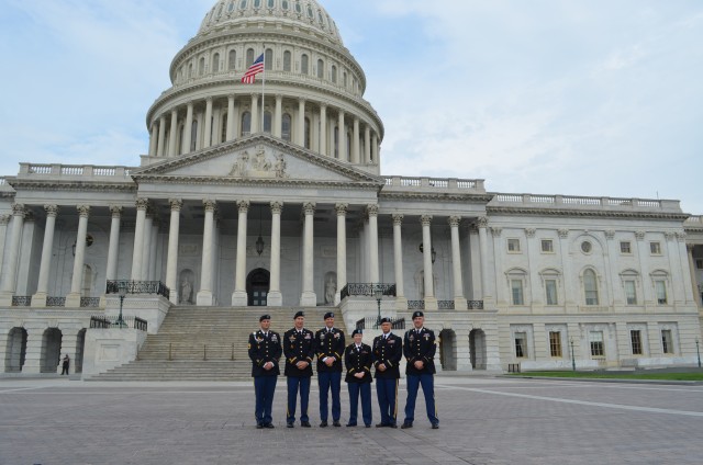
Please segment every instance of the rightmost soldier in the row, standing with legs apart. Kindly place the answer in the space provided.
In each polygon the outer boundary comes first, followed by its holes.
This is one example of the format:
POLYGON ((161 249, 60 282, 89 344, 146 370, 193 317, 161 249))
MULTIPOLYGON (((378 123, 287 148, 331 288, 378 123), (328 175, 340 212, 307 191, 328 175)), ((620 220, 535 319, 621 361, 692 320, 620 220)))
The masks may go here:
POLYGON ((403 354, 408 360, 405 375, 408 378, 408 401, 405 402, 405 420, 402 429, 412 428, 415 419, 415 399, 417 389, 422 385, 425 395, 425 406, 427 407, 427 418, 432 429, 439 428, 439 419, 435 407, 435 333, 432 329, 424 328, 425 316, 422 311, 413 314, 413 329, 405 331, 403 340, 403 354))

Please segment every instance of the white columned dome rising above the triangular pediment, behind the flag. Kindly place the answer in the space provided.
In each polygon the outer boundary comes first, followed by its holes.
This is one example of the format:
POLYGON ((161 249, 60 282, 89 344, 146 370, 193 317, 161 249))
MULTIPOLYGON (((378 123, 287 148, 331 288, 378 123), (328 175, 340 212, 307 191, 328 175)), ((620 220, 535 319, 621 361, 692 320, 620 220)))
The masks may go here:
POLYGON ((264 133, 379 174, 383 124, 366 76, 315 0, 219 0, 169 72, 143 165, 264 133), (266 71, 242 83, 261 54, 266 71))

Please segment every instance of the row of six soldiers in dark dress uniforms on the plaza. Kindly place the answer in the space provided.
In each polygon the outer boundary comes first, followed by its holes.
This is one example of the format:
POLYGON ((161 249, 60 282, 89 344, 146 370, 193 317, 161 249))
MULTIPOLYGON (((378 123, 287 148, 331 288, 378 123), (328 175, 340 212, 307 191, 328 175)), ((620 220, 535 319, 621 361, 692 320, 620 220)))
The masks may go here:
POLYGON ((249 359, 256 394, 256 428, 274 428, 272 405, 276 383, 280 374, 279 361, 286 356, 283 374, 287 377, 288 409, 286 424, 294 428, 297 401, 300 397, 300 426, 310 428, 308 405, 310 383, 313 375, 313 362, 316 358, 317 384, 320 388, 320 427, 326 428, 330 419, 328 398, 332 394, 332 424, 341 427, 342 404, 339 392, 342 373, 346 370, 345 382, 349 390, 349 419, 347 427, 356 427, 358 421, 359 397, 361 398, 361 419, 366 428, 371 427, 371 383, 376 379, 376 394, 381 411, 381 420, 376 428, 398 428, 398 383, 400 362, 406 359, 405 375, 408 400, 402 429, 412 428, 415 415, 417 390, 422 386, 427 408, 427 418, 433 429, 439 428, 439 419, 434 398, 434 356, 436 351, 435 333, 424 327, 422 311, 413 314, 413 328, 404 338, 393 334, 390 318, 380 320, 382 333, 373 339, 372 347, 361 342, 360 329, 352 332, 354 342, 346 345, 344 331, 334 326, 334 314, 324 315, 325 326, 312 332, 304 327, 305 315, 295 313, 294 325, 281 338, 269 330, 271 317, 259 318, 260 328, 249 336, 249 359), (373 375, 371 367, 375 368, 373 375))

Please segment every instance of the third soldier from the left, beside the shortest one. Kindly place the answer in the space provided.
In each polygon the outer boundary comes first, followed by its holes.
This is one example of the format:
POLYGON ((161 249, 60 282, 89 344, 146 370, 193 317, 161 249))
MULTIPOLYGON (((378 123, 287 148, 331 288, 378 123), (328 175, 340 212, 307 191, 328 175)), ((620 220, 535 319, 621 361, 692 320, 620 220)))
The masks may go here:
POLYGON ((325 327, 315 332, 317 352, 317 386, 320 387, 320 428, 327 427, 327 394, 332 390, 332 424, 341 427, 342 402, 342 356, 344 354, 344 331, 334 327, 334 314, 324 316, 325 327))

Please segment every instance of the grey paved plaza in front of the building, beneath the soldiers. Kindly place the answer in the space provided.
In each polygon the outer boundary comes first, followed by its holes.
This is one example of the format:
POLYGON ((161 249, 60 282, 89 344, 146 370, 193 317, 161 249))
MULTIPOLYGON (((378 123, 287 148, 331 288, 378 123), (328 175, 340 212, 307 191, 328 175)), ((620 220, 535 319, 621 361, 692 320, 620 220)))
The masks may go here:
MULTIPOLYGON (((703 462, 701 385, 439 375, 438 430, 422 394, 413 429, 321 429, 316 390, 313 428, 287 429, 284 385, 276 429, 257 430, 252 383, 0 379, 0 464, 703 462)), ((402 383, 399 397, 402 422, 402 383)), ((347 409, 343 386, 343 423, 347 409)))

